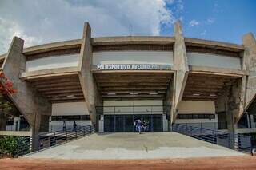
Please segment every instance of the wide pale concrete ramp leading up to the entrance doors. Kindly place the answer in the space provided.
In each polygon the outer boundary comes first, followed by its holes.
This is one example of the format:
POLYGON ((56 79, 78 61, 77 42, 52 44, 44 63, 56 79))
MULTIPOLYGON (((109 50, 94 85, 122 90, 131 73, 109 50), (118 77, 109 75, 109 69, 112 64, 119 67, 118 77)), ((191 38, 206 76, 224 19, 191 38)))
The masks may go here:
POLYGON ((97 133, 26 157, 59 159, 155 159, 207 156, 243 156, 176 132, 97 133))

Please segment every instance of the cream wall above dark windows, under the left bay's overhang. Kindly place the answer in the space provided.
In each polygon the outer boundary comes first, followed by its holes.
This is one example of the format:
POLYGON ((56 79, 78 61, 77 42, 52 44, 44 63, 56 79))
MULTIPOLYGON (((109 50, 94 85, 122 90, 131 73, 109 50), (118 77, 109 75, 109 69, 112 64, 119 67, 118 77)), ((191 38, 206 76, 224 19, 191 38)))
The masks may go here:
POLYGON ((67 102, 52 104, 52 116, 89 115, 85 102, 67 102))

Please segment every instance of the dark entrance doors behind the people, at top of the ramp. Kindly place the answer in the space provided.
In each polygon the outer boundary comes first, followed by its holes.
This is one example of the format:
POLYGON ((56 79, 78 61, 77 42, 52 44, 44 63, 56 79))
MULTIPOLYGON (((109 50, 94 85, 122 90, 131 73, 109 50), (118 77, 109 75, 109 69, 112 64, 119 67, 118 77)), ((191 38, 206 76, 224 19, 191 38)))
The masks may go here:
POLYGON ((134 132, 134 121, 147 122, 147 132, 162 132, 162 114, 104 115, 104 132, 134 132))

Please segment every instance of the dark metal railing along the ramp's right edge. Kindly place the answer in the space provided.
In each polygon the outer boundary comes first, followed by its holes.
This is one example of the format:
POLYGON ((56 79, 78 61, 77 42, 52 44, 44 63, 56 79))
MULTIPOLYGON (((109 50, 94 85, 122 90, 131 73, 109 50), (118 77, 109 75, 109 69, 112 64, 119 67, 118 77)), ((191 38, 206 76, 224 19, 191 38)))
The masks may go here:
POLYGON ((204 140, 212 144, 218 144, 242 152, 252 152, 253 149, 250 136, 243 134, 230 135, 227 132, 199 128, 190 124, 175 124, 172 126, 172 130, 186 136, 194 137, 198 140, 204 140))

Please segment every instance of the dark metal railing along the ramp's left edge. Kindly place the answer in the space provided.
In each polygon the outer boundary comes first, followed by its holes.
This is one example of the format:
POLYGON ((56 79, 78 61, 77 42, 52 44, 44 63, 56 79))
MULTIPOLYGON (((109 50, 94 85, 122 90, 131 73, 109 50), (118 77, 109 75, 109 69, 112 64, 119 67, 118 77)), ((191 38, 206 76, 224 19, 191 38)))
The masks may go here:
POLYGON ((64 144, 94 132, 94 125, 79 125, 77 128, 66 128, 66 131, 46 132, 37 136, 27 137, 18 144, 17 156, 23 156, 31 152, 40 152, 43 149, 64 144))

